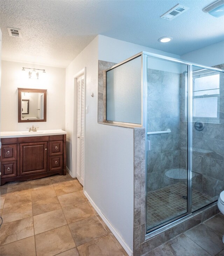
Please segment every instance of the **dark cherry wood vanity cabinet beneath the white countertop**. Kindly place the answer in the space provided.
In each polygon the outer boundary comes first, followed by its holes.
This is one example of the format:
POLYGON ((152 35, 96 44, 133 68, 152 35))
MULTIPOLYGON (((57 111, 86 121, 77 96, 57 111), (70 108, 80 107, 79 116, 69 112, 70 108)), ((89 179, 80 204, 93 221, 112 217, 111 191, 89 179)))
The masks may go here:
POLYGON ((1 138, 1 185, 66 175, 66 134, 1 138))

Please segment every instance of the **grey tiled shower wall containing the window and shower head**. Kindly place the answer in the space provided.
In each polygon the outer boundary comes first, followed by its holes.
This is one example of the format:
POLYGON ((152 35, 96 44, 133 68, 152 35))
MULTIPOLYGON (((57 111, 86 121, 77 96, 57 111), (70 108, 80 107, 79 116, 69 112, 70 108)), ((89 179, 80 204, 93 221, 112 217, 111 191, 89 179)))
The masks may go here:
MULTIPOLYGON (((224 64, 215 67, 224 69, 224 64)), ((181 86, 184 88, 182 79, 181 86)), ((184 105, 184 90, 181 91, 181 105, 184 105)), ((201 120, 197 118, 197 120, 206 122, 206 118, 201 120)), ((193 189, 218 198, 220 192, 224 190, 224 73, 220 73, 219 120, 215 122, 209 119, 202 133, 193 130, 192 185, 193 189)), ((187 122, 182 109, 180 127, 181 138, 183 138, 187 134, 187 122)), ((184 140, 180 143, 180 164, 181 167, 186 168, 187 144, 184 140)))

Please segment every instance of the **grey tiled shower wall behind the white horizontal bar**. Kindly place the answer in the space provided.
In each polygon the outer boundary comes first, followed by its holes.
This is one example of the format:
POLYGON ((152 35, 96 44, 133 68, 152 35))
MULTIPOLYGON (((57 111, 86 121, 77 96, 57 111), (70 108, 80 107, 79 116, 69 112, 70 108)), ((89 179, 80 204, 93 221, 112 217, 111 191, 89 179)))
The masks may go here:
POLYGON ((171 130, 147 136, 147 191, 153 191, 173 184, 165 173, 180 165, 180 74, 147 69, 147 85, 147 131, 171 130))

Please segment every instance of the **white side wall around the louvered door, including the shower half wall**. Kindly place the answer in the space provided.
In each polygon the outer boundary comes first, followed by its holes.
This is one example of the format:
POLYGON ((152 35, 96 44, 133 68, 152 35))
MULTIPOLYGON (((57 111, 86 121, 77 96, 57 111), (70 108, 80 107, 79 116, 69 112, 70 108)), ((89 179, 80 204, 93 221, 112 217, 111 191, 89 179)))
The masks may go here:
MULTIPOLYGON (((65 123, 68 123, 68 150, 72 149, 73 77, 86 67, 85 181, 84 189, 133 248, 133 130, 97 123, 98 106, 98 37, 66 68, 65 123), (91 97, 91 94, 94 97, 91 97)), ((75 125, 75 120, 74 120, 75 125)), ((68 156, 70 171, 75 172, 76 152, 68 156), (71 160, 72 158, 72 160, 71 160), (70 159, 70 160, 69 160, 70 159)))

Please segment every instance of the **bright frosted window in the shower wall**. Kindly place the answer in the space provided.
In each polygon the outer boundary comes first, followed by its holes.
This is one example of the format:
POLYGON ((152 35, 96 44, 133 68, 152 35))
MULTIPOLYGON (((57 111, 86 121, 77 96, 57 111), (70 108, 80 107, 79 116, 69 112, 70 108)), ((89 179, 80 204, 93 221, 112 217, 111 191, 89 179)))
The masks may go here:
POLYGON ((193 73, 193 117, 219 118, 219 74, 216 71, 193 73))

